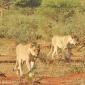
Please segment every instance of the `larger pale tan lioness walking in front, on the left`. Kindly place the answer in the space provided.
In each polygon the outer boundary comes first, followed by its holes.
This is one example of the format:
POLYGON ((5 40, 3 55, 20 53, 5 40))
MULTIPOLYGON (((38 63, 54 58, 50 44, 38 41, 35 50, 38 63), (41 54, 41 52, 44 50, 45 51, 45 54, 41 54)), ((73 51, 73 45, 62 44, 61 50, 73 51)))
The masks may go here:
POLYGON ((27 68, 29 72, 34 66, 34 58, 37 57, 39 54, 39 47, 35 46, 33 43, 29 43, 26 45, 19 44, 16 47, 16 65, 15 69, 17 68, 17 74, 19 76, 23 76, 22 72, 22 64, 26 62, 27 68))

